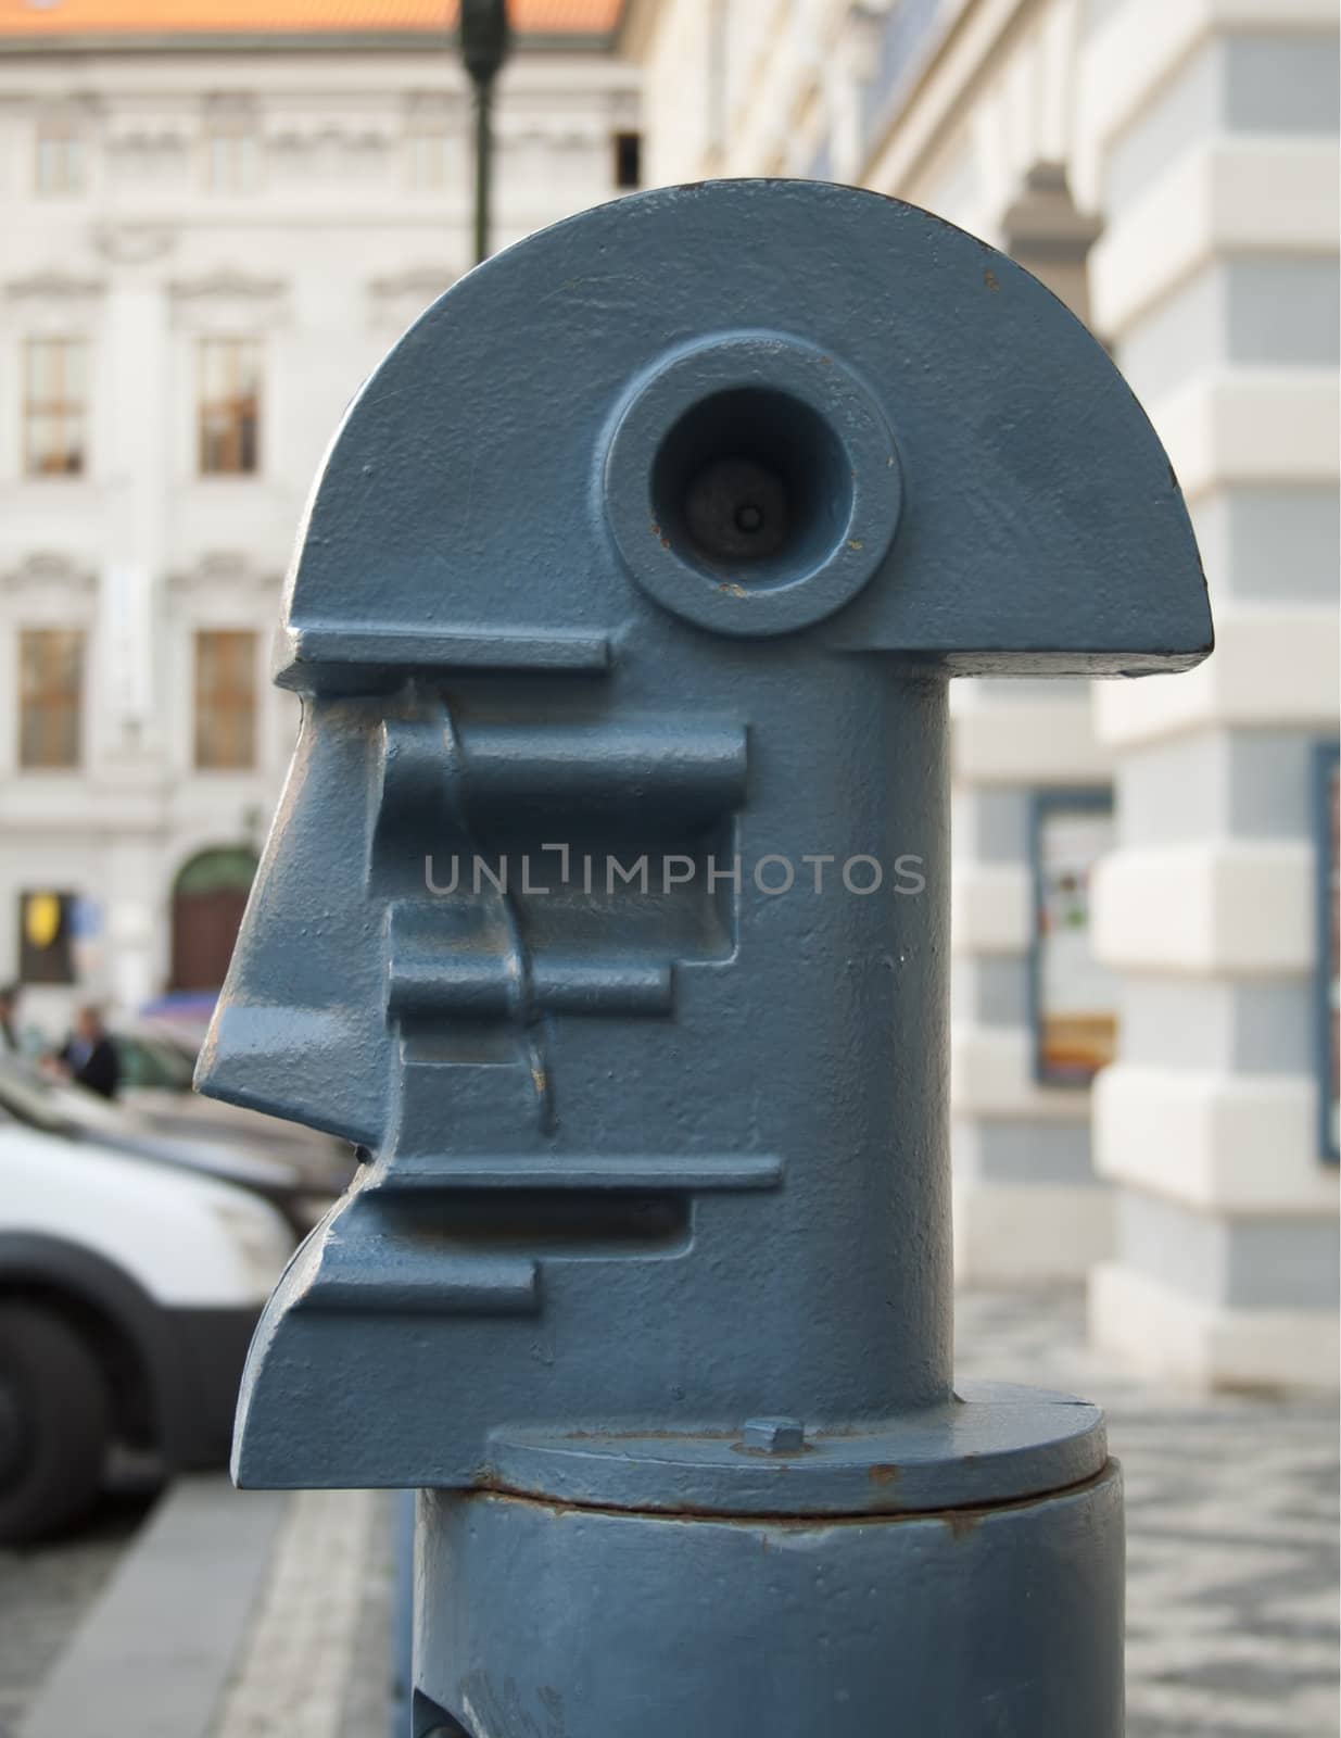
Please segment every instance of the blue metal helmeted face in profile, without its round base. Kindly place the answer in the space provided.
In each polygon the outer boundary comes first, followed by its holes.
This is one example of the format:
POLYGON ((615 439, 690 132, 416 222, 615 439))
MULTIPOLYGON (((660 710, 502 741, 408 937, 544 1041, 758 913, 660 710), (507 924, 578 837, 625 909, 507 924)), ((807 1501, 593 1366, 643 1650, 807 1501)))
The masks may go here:
POLYGON ((947 681, 1209 641, 1108 358, 924 212, 665 189, 450 290, 313 497, 201 1058, 368 1152, 259 1330, 243 1483, 947 1406, 947 681))

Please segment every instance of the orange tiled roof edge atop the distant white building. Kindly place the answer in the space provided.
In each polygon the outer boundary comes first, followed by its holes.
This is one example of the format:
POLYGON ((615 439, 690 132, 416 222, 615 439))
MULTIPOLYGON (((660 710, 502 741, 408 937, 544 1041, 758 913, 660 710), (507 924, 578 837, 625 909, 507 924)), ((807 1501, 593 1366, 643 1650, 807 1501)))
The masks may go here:
MULTIPOLYGON (((622 0, 509 0, 519 33, 615 28, 622 0)), ((195 36, 441 31, 457 0, 0 0, 0 40, 16 36, 195 36)))

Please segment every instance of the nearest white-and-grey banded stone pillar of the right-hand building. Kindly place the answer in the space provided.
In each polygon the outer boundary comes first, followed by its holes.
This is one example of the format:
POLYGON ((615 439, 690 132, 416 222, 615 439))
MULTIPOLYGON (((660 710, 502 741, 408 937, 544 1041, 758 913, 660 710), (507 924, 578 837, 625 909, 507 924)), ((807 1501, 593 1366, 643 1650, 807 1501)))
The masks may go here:
POLYGON ((1334 905, 1315 890, 1338 714, 1336 9, 1093 10, 1094 308, 1188 497, 1218 640, 1186 685, 1094 695, 1119 768, 1098 942, 1124 996, 1094 1105, 1117 1243, 1093 1326, 1171 1375, 1334 1382, 1336 1032, 1315 994, 1334 905))

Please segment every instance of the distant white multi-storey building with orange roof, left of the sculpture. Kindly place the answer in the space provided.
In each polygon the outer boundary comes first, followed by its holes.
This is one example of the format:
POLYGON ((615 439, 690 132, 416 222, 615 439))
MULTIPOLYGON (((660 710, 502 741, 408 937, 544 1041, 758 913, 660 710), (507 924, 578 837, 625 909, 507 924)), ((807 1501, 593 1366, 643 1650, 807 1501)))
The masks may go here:
MULTIPOLYGON (((268 660, 313 473, 472 264, 450 10, 0 7, 0 980, 24 1018, 221 982, 295 728, 268 660)), ((617 12, 512 0, 495 247, 637 184, 617 12)))

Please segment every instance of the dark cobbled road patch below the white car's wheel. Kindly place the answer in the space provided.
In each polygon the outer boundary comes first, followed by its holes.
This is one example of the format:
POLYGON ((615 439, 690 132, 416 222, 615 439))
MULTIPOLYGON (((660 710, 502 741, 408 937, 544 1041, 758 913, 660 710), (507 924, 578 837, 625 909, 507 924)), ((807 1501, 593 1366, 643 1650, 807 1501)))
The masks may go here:
POLYGON ((69 1538, 0 1549, 0 1738, 16 1738, 33 1693, 97 1599, 153 1503, 132 1479, 99 1503, 69 1538))

